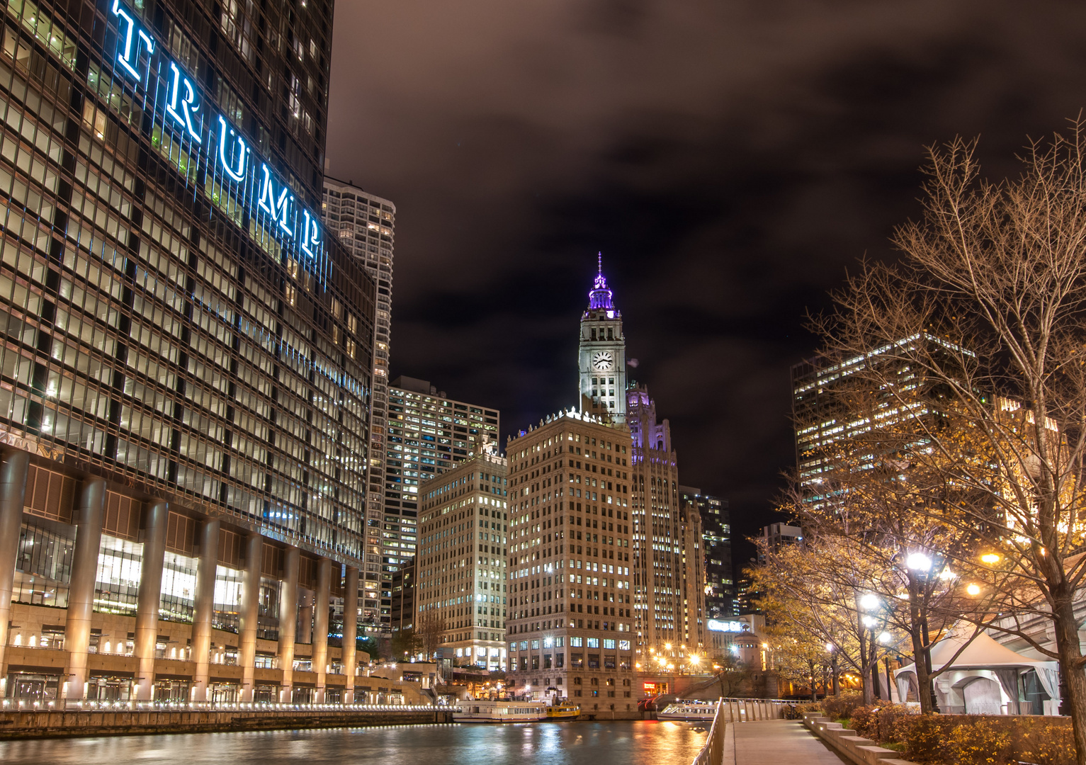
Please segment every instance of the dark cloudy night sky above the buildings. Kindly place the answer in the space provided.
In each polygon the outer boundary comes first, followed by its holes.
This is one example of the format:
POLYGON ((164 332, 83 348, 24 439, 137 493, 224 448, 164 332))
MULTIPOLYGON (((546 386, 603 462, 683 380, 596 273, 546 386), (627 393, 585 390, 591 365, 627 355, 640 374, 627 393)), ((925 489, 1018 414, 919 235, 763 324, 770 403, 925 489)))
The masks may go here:
POLYGON ((396 205, 393 377, 498 407, 503 443, 573 405, 603 251, 680 481, 756 533, 805 314, 894 257, 924 145, 1016 174, 1086 105, 1084 30, 1073 2, 340 0, 330 175, 396 205))

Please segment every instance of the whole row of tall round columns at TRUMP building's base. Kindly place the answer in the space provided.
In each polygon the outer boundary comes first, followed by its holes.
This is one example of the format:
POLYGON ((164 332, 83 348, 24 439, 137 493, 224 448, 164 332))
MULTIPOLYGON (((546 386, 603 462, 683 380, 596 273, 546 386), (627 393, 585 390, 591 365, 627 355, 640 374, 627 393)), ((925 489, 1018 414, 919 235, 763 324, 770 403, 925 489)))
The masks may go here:
MULTIPOLYGON (((9 685, 10 659, 18 652, 17 640, 13 643, 11 636, 13 589, 15 572, 21 545, 21 528, 24 522, 25 505, 27 502, 27 475, 31 464, 31 455, 27 451, 3 447, 0 450, 0 697, 11 697, 9 685)), ((63 661, 63 672, 55 664, 60 683, 56 692, 59 700, 79 701, 86 698, 86 688, 90 679, 90 658, 97 652, 92 649, 93 625, 108 614, 96 612, 96 588, 99 578, 100 547, 103 536, 103 518, 108 484, 103 479, 89 476, 75 485, 75 496, 71 506, 71 521, 75 528, 75 541, 71 550, 71 582, 67 590, 67 604, 63 612, 63 659, 54 656, 56 662, 63 661)), ((186 510, 186 512, 189 512, 186 510)), ((184 662, 165 662, 162 656, 162 632, 164 627, 177 627, 176 623, 160 621, 161 599, 163 592, 163 570, 167 553, 167 526, 171 523, 169 502, 152 499, 142 502, 139 508, 142 541, 142 556, 139 561, 139 585, 135 604, 135 628, 129 633, 130 654, 126 660, 131 668, 131 699, 135 701, 152 701, 155 699, 156 677, 168 676, 188 678, 188 700, 194 702, 212 701, 210 687, 213 674, 219 666, 214 660, 215 639, 222 642, 222 633, 216 633, 214 624, 216 609, 216 569, 219 566, 222 546, 222 522, 216 518, 193 519, 194 538, 193 557, 195 565, 195 588, 191 619, 191 633, 188 638, 188 650, 184 662), (181 675, 178 675, 178 672, 181 675)), ((303 561, 302 550, 295 546, 274 543, 255 531, 244 533, 241 540, 241 587, 240 602, 237 613, 237 662, 231 671, 240 677, 237 684, 237 701, 252 702, 257 681, 270 683, 278 687, 278 701, 292 701, 295 678, 302 674, 295 671, 295 632, 299 614, 303 614, 303 629, 310 634, 304 636, 312 653, 310 656, 312 672, 304 673, 306 685, 313 688, 312 700, 315 703, 328 701, 354 702, 354 679, 357 673, 355 639, 357 635, 358 570, 354 566, 345 569, 345 582, 341 597, 343 604, 342 648, 339 650, 339 662, 334 667, 329 665, 329 612, 331 605, 332 577, 339 581, 341 564, 328 558, 307 557, 307 563, 315 564, 316 582, 312 598, 302 597, 299 587, 300 569, 303 561), (264 651, 264 660, 257 662, 260 643, 260 598, 262 575, 269 574, 267 557, 269 550, 281 549, 281 568, 276 569, 279 581, 278 597, 278 640, 275 645, 274 661, 264 651), (300 603, 301 610, 300 610, 300 603), (304 610, 311 615, 310 622, 304 610), (329 668, 336 672, 330 673, 329 668), (336 693, 326 694, 329 687, 329 674, 337 675, 334 679, 336 693)), ((311 565, 312 568, 312 565, 311 565)), ((339 590, 340 588, 337 587, 339 590)), ((42 608, 45 607, 30 607, 42 608)), ((56 619, 59 609, 48 609, 48 617, 56 619)), ((101 632, 101 630, 99 630, 101 632)), ((233 636, 227 636, 233 639, 233 636)), ((55 652, 50 652, 55 653, 55 652)), ((24 662, 25 663, 25 662, 24 662)), ((36 659, 35 664, 46 663, 36 659)), ((220 672, 220 670, 219 670, 220 672)), ((269 699, 265 699, 269 700, 269 699)))

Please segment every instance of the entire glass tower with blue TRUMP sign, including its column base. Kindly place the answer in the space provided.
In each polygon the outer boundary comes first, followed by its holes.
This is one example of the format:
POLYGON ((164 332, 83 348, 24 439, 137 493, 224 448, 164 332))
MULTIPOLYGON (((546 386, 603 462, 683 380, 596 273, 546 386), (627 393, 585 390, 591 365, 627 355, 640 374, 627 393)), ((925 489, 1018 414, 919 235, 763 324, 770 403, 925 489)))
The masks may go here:
POLYGON ((7 4, 8 696, 353 696, 375 284, 319 218, 331 21, 7 4))

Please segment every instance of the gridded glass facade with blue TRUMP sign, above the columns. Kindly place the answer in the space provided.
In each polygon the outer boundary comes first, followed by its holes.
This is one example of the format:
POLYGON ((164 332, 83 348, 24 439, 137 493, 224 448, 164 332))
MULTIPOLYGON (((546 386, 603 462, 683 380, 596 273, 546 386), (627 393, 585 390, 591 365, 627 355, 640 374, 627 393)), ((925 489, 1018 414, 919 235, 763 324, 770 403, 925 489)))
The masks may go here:
POLYGON ((357 558, 374 284, 319 229, 303 252, 323 90, 278 103, 327 82, 331 4, 142 5, 8 5, 0 428, 357 558))

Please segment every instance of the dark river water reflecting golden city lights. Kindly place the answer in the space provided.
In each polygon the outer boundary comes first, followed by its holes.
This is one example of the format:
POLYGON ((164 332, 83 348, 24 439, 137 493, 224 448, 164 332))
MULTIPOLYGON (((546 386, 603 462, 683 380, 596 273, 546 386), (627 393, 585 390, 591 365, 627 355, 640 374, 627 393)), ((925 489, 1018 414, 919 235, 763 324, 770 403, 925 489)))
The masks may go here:
POLYGON ((3 765, 690 765, 689 723, 404 725, 331 730, 0 741, 3 765))

